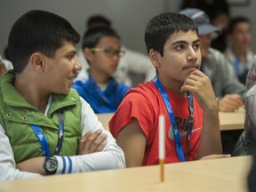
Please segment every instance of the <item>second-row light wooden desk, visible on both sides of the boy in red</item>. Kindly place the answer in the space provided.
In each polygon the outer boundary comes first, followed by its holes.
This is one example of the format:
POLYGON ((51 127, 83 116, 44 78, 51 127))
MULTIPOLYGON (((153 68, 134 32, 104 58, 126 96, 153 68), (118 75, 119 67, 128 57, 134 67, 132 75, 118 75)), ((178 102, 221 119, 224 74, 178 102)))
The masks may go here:
MULTIPOLYGON (((108 130, 108 122, 110 121, 113 113, 97 114, 103 127, 108 130)), ((244 129, 244 110, 236 112, 224 113, 220 112, 220 131, 232 131, 244 129)))

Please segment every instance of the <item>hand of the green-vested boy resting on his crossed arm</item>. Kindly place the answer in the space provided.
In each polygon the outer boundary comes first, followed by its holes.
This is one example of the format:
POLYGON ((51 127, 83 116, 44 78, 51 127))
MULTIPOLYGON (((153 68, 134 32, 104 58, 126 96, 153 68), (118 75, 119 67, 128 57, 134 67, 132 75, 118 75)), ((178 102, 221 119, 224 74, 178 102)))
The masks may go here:
POLYGON ((81 140, 79 140, 78 155, 90 154, 102 151, 107 144, 107 134, 102 134, 102 130, 96 132, 86 132, 81 140))

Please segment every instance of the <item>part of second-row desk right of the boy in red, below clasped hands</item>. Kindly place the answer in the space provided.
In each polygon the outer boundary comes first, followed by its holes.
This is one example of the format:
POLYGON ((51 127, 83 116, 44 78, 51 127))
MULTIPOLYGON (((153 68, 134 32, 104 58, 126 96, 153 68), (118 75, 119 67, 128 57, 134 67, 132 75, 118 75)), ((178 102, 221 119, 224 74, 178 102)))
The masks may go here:
POLYGON ((220 112, 220 131, 232 131, 244 129, 244 109, 236 112, 220 112))

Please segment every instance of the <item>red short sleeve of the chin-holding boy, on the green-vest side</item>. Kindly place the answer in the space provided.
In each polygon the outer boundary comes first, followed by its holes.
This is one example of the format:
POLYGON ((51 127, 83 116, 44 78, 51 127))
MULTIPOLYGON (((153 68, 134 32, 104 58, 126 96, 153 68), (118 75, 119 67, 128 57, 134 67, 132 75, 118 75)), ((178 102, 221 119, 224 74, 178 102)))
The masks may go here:
POLYGON ((156 108, 154 109, 152 107, 147 98, 138 92, 130 92, 124 97, 124 100, 119 108, 117 108, 115 115, 110 120, 109 130, 116 138, 117 134, 124 128, 124 126, 131 124, 133 118, 136 118, 140 124, 140 128, 148 138, 155 122, 153 111, 156 111, 156 108))

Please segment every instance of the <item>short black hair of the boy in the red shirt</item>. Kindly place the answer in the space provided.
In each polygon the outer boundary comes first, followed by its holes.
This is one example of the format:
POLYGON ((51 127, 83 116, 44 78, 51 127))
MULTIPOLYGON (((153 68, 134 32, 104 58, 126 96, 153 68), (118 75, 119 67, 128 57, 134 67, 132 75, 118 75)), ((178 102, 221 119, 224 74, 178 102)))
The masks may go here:
POLYGON ((174 32, 188 32, 195 30, 198 35, 196 23, 188 16, 180 13, 165 12, 156 15, 149 20, 144 40, 147 46, 148 53, 150 49, 164 55, 164 44, 174 32))

